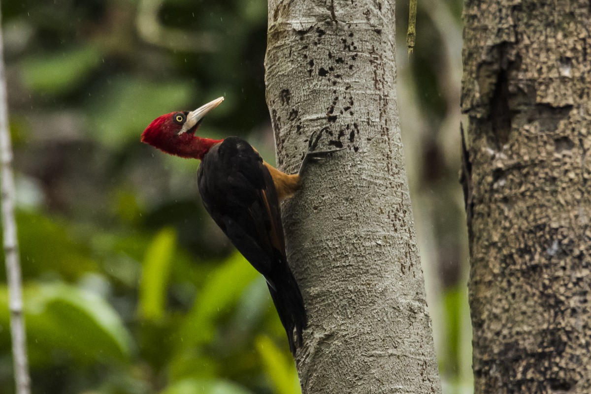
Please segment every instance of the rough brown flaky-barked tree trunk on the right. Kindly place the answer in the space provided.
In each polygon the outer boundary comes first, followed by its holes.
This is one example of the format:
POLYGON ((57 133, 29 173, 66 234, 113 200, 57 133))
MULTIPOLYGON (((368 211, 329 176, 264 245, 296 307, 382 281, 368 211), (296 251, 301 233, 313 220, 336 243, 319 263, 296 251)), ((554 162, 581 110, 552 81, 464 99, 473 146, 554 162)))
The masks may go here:
POLYGON ((476 393, 591 392, 590 14, 465 4, 476 393))

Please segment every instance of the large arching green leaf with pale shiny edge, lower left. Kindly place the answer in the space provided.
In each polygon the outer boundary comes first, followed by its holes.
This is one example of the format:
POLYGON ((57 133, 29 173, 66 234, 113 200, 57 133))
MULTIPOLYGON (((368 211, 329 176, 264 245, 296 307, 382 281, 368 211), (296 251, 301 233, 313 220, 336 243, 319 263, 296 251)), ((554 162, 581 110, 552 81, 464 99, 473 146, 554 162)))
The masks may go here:
MULTIPOLYGON (((85 363, 131 356, 131 334, 98 295, 62 283, 27 285, 24 301, 32 365, 51 363, 58 350, 85 363)), ((7 287, 2 286, 0 324, 8 322, 7 287)), ((0 335, 8 336, 8 330, 0 335)))

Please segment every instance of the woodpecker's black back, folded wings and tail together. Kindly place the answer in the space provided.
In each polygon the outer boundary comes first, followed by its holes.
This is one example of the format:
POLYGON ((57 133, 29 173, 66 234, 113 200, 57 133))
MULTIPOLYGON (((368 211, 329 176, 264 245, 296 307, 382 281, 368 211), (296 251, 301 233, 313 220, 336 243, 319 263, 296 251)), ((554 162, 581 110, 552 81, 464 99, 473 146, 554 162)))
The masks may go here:
POLYGON ((245 140, 228 137, 203 157, 197 174, 203 204, 232 244, 267 280, 294 353, 307 318, 287 265, 280 206, 271 174, 245 140))

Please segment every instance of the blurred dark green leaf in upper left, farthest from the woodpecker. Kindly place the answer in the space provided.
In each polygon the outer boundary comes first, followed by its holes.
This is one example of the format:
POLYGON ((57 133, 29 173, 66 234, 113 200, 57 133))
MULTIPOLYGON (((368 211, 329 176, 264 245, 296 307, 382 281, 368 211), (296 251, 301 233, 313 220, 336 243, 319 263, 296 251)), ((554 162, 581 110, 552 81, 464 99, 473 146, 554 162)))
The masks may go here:
POLYGON ((22 63, 25 86, 38 93, 62 94, 78 86, 101 63, 93 45, 35 54, 22 63))

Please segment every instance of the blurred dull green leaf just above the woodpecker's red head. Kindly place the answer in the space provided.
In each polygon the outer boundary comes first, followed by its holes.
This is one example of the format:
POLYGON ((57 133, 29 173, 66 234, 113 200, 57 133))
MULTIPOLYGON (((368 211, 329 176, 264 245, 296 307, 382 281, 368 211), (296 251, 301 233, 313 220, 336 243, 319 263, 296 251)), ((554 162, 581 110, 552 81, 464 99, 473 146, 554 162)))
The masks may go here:
POLYGON ((187 105, 196 88, 182 81, 153 82, 137 77, 118 78, 103 87, 98 101, 89 107, 90 136, 105 145, 121 147, 135 139, 156 117, 190 110, 187 105))

